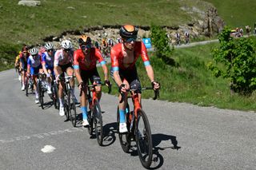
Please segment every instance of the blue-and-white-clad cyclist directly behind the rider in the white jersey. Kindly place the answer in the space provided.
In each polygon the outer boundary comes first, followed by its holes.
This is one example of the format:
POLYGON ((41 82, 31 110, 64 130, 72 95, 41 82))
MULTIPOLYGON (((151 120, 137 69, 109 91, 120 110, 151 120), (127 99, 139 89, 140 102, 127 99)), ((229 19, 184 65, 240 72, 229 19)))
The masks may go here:
POLYGON ((47 93, 51 94, 51 81, 54 77, 54 45, 51 42, 46 43, 44 46, 46 51, 42 53, 42 69, 46 73, 47 79, 47 93))

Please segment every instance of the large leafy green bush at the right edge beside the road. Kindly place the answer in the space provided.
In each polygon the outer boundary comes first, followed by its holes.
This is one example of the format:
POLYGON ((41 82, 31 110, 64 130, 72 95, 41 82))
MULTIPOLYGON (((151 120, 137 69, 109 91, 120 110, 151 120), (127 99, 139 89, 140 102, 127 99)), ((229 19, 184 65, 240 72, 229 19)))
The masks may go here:
POLYGON ((250 38, 232 38, 230 32, 226 27, 218 36, 220 47, 214 49, 215 65, 210 63, 209 69, 216 77, 228 78, 232 92, 250 95, 256 89, 255 44, 250 38))

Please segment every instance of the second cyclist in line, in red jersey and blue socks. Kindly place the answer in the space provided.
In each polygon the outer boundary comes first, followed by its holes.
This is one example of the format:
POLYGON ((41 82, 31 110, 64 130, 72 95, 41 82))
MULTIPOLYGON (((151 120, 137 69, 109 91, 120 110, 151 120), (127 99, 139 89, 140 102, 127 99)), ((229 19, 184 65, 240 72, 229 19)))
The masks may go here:
MULTIPOLYGON (((92 47, 90 37, 82 35, 81 38, 78 39, 78 43, 80 49, 74 51, 74 73, 78 80, 78 87, 80 90, 82 90, 82 96, 80 98, 82 125, 87 126, 89 125, 87 120, 87 89, 82 89, 82 85, 88 85, 89 79, 94 85, 101 84, 101 78, 98 75, 96 67, 97 61, 102 65, 106 85, 110 85, 110 81, 108 78, 106 61, 103 59, 102 53, 99 51, 99 49, 92 47)), ((101 86, 96 86, 95 91, 98 101, 100 101, 102 97, 101 86)))

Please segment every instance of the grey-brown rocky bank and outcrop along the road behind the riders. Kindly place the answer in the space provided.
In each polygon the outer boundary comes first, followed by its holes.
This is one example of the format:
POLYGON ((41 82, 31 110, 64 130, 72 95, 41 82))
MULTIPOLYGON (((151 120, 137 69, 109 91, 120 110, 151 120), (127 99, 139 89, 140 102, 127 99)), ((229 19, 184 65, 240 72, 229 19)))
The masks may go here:
MULTIPOLYGON (((166 29, 170 43, 175 42, 175 34, 178 32, 181 35, 181 40, 184 41, 184 34, 187 31, 190 38, 212 37, 221 32, 224 27, 224 22, 217 14, 217 10, 210 6, 208 10, 202 11, 195 7, 188 8, 182 6, 184 10, 192 16, 191 22, 181 26, 162 26, 166 29), (193 17, 194 16, 194 17, 193 17)), ((91 26, 86 27, 84 30, 67 30, 59 36, 49 36, 44 38, 44 42, 54 42, 56 48, 59 47, 59 42, 63 39, 70 39, 74 47, 78 47, 78 38, 81 34, 86 34, 95 42, 102 42, 102 39, 111 38, 117 42, 119 38, 119 28, 121 26, 91 26)), ((138 39, 148 38, 150 35, 150 26, 138 26, 138 39)))

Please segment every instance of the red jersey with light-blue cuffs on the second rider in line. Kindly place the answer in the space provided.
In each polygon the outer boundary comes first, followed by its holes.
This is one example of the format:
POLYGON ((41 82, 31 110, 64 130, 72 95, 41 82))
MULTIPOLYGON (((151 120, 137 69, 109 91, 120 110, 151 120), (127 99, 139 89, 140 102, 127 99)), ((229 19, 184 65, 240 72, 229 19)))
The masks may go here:
POLYGON ((102 57, 102 53, 99 49, 91 48, 90 49, 90 59, 86 61, 86 57, 82 52, 82 49, 77 49, 74 51, 74 69, 82 69, 82 70, 91 70, 96 68, 97 61, 101 65, 105 65, 106 61, 102 57))

